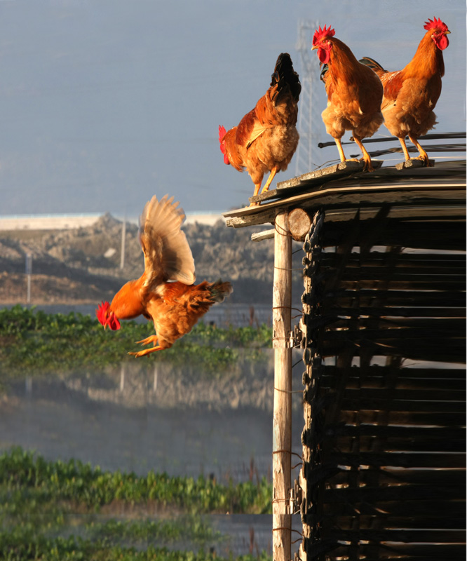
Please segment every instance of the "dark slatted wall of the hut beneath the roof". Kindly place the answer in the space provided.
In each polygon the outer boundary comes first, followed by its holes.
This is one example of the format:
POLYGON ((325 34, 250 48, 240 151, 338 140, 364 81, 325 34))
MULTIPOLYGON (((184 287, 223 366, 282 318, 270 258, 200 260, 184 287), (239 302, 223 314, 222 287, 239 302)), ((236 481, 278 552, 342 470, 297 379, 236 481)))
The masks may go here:
POLYGON ((389 216, 304 243, 302 561, 465 559, 465 224, 389 216))

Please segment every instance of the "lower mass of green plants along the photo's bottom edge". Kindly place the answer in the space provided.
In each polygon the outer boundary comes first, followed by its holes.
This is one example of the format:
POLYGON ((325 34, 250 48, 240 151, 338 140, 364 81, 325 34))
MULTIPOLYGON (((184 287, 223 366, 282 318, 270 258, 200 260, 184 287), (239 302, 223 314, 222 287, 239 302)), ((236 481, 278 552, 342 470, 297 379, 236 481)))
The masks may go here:
POLYGON ((204 514, 270 513, 271 492, 265 480, 218 485, 153 472, 137 477, 75 460, 46 461, 15 447, 0 455, 0 558, 213 560, 205 548, 223 543, 226 536, 213 530, 204 514), (107 515, 128 510, 140 518, 102 521, 102 509, 107 515), (149 511, 172 515, 154 520, 147 518, 149 511))

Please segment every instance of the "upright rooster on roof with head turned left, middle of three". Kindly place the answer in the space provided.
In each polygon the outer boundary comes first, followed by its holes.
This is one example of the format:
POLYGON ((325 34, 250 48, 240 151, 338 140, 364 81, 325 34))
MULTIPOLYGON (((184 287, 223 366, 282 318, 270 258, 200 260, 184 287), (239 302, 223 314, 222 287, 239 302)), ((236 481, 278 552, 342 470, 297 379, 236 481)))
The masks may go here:
POLYGON ((325 65, 321 74, 327 93, 327 107, 321 114, 330 134, 337 144, 342 162, 347 161, 341 137, 351 130, 353 140, 363 153, 365 170, 373 171, 370 154, 362 139, 376 133, 383 123, 381 81, 365 65, 360 64, 345 43, 334 38, 334 29, 326 26, 316 29, 311 50, 318 49, 318 58, 325 65))

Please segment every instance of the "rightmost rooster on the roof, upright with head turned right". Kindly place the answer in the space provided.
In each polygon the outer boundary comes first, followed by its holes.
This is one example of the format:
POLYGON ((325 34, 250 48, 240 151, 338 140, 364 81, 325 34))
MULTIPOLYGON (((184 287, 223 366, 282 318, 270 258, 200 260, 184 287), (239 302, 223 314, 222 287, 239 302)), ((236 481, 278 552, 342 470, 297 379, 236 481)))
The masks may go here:
POLYGON ((389 132, 398 137, 405 160, 410 160, 405 136, 419 151, 418 159, 430 165, 428 154, 419 144, 419 137, 426 135, 436 124, 433 113, 441 93, 441 78, 445 74, 442 51, 449 45, 447 25, 440 19, 428 19, 414 58, 398 72, 388 72, 369 57, 360 62, 377 73, 384 86, 381 111, 389 132))

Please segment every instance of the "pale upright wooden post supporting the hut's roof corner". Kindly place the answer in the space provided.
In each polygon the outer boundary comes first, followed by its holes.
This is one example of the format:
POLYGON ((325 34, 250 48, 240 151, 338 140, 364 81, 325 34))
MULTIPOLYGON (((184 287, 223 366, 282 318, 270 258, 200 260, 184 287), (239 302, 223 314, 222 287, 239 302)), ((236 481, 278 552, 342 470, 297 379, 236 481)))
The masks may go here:
POLYGON ((292 238, 286 213, 276 216, 273 282, 273 561, 290 561, 290 452, 292 442, 292 238))

